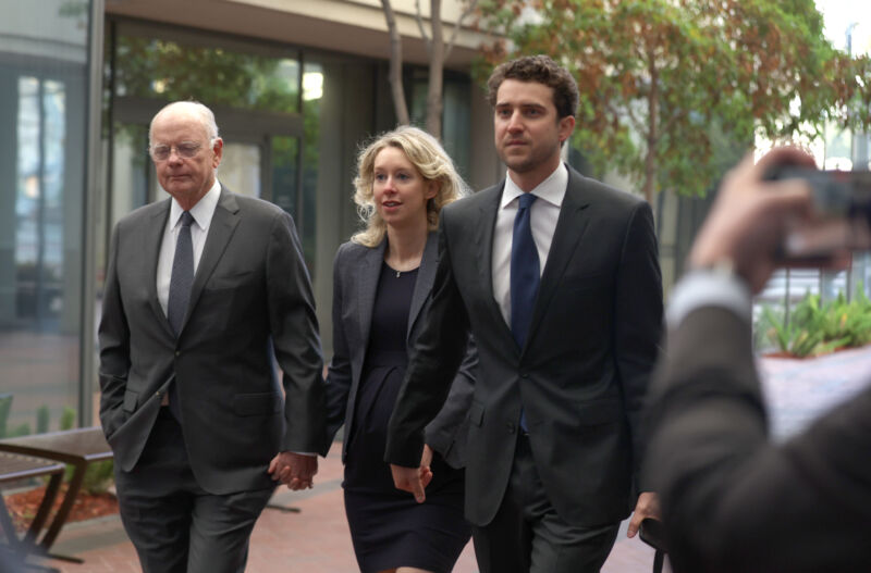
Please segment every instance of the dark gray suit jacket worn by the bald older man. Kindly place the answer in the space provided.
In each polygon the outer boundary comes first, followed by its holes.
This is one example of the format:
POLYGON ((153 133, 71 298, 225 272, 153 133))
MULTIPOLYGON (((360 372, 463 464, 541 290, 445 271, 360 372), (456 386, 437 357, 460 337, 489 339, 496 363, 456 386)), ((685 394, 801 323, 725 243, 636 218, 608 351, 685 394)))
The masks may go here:
POLYGON ((176 339, 156 285, 170 201, 137 209, 112 236, 99 328, 106 437, 132 471, 174 377, 199 485, 217 495, 271 487, 279 451, 328 446, 314 297, 293 221, 221 189, 176 339))

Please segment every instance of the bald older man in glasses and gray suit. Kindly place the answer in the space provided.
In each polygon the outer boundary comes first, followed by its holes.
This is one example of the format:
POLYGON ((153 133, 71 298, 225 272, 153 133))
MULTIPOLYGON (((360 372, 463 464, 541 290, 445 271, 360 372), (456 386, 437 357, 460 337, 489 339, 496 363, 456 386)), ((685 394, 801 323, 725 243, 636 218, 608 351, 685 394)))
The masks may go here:
POLYGON ((311 287, 291 216, 216 178, 208 108, 149 139, 172 198, 115 226, 99 328, 121 516, 146 572, 242 572, 274 481, 310 487, 328 447, 311 287))

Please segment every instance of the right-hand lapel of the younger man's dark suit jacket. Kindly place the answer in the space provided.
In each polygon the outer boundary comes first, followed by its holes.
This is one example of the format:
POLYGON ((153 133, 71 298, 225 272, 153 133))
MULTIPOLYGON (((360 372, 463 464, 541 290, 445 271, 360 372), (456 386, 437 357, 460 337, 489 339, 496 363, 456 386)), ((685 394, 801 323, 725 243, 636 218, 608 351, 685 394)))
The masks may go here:
POLYGON ((535 336, 536 327, 541 322, 556 286, 562 281, 568 262, 572 260, 584 233, 587 231, 590 222, 586 211, 588 205, 589 200, 584 197, 584 180, 576 171, 569 167, 568 187, 565 191, 563 205, 560 208, 560 216, 556 220, 556 228, 553 232, 551 250, 548 253, 548 262, 544 264, 544 272, 541 275, 541 284, 536 298, 536 308, 532 311, 532 323, 529 325, 527 340, 535 336))

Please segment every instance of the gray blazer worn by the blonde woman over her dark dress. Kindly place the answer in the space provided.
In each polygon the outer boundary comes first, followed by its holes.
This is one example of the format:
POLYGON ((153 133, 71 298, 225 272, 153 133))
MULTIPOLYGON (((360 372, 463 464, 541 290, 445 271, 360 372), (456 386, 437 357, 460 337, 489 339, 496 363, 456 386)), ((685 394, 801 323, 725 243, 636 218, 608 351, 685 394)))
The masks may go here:
MULTIPOLYGON (((372 320, 378 276, 384 260, 387 239, 376 248, 345 242, 335 254, 333 269, 333 359, 327 377, 328 434, 334 436, 344 424, 342 459, 347 454, 357 389, 360 384, 369 327, 372 320)), ((422 329, 429 296, 439 263, 438 237, 430 233, 417 274, 408 313, 406 342, 410 349, 422 329)), ((426 443, 453 468, 466 460, 468 409, 475 389, 478 356, 469 341, 466 356, 454 377, 444 408, 426 427, 426 443)))

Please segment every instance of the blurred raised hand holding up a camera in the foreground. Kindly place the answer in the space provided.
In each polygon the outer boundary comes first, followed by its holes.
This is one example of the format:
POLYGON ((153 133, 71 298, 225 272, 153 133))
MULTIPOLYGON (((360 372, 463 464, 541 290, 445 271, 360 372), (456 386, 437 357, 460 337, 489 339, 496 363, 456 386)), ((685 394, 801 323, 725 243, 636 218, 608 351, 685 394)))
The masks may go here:
POLYGON ((747 157, 720 187, 711 214, 699 231, 689 265, 732 264, 752 292, 774 271, 774 254, 790 226, 812 217, 809 186, 798 179, 763 180, 774 165, 814 167, 813 158, 793 147, 776 148, 753 165, 747 157))

